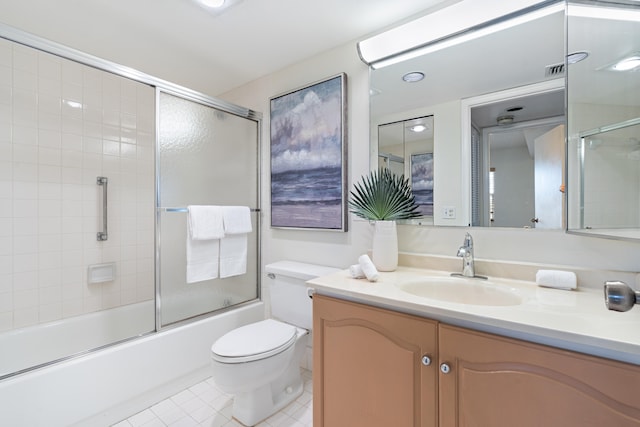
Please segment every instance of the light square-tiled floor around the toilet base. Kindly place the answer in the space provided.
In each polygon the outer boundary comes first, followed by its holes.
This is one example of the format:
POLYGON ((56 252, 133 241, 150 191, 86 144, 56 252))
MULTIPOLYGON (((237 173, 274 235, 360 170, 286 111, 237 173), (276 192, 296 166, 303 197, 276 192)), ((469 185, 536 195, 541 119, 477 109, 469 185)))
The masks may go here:
MULTIPOLYGON (((303 369, 302 378, 302 395, 258 427, 312 426, 311 372, 303 369)), ((242 427, 231 416, 231 402, 232 397, 220 391, 213 378, 209 378, 113 427, 242 427)))

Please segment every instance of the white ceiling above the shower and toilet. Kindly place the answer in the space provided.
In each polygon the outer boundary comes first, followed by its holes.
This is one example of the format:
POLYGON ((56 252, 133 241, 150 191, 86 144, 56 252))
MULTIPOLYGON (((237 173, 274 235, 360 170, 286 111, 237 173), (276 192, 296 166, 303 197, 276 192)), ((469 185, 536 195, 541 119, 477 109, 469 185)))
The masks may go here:
POLYGON ((455 1, 0 0, 0 22, 215 96, 455 1))

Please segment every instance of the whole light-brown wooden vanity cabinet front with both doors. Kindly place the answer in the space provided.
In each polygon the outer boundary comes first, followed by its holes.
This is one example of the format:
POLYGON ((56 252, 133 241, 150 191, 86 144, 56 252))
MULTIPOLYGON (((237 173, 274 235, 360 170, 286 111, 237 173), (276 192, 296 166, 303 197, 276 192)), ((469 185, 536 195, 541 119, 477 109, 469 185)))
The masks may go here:
POLYGON ((640 426, 636 365, 321 295, 313 346, 315 427, 640 426))

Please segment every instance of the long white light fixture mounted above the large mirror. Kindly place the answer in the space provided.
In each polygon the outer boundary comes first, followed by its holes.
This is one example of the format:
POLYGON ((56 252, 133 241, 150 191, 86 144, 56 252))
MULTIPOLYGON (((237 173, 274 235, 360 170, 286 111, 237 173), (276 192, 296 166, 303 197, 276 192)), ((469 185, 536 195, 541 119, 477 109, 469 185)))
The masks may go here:
POLYGON ((564 7, 564 2, 551 0, 462 0, 362 40, 358 43, 358 54, 371 68, 382 68, 556 12, 564 12, 564 7))

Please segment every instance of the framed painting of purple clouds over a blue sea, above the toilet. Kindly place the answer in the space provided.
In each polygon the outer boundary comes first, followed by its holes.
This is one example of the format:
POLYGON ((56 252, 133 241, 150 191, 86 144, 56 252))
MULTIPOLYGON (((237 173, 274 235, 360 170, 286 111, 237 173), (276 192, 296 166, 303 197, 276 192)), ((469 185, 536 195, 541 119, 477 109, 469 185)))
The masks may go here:
POLYGON ((347 231, 346 74, 271 98, 271 226, 347 231))

